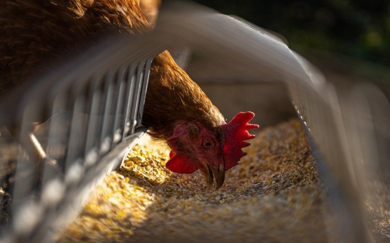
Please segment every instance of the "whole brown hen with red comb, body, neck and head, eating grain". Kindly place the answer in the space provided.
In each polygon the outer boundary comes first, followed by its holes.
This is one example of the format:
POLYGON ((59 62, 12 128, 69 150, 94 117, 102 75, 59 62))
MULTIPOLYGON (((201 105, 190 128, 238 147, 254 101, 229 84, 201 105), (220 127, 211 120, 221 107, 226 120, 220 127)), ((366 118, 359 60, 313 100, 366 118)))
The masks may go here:
MULTIPOLYGON (((156 1, 157 3, 159 1, 156 1)), ((141 35, 151 30, 136 0, 3 0, 0 6, 0 95, 25 82, 34 72, 53 68, 81 52, 88 41, 110 32, 141 35), (43 65, 44 64, 44 65, 43 65)), ((142 6, 142 4, 141 4, 142 6)), ((158 6, 158 4, 156 4, 158 6)), ((151 18, 153 13, 150 8, 151 18)), ((150 71, 142 123, 152 138, 171 148, 166 167, 191 174, 200 169, 212 188, 224 182, 225 171, 246 154, 244 142, 252 112, 240 112, 226 123, 206 94, 165 51, 150 71)))

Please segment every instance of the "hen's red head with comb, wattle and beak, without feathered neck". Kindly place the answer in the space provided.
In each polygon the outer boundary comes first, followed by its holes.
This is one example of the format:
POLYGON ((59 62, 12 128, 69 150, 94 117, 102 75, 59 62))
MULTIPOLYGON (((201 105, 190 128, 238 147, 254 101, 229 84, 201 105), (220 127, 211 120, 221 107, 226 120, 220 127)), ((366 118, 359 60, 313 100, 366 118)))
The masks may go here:
POLYGON ((199 121, 179 121, 167 142, 171 147, 171 159, 166 167, 176 173, 191 174, 200 169, 209 189, 216 181, 216 189, 225 180, 225 171, 235 165, 242 156, 241 148, 251 145, 244 140, 253 139, 248 129, 258 128, 249 124, 254 113, 240 112, 232 121, 209 129, 199 121))

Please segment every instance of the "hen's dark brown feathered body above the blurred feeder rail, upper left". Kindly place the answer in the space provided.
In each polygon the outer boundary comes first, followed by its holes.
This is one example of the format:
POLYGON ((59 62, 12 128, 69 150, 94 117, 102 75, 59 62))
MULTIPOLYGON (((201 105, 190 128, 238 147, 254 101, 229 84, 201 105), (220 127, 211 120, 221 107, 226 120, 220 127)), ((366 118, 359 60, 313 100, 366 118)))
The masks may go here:
POLYGON ((0 95, 99 36, 148 30, 136 0, 2 0, 0 95))

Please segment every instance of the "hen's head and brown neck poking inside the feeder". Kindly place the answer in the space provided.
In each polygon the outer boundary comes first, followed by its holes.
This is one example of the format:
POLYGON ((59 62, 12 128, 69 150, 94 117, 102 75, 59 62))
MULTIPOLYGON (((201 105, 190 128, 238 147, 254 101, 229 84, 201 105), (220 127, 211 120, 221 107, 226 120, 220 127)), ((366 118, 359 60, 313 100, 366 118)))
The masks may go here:
POLYGON ((241 112, 226 123, 168 52, 155 58, 142 122, 153 138, 167 141, 172 152, 166 167, 171 171, 191 174, 200 169, 209 188, 213 177, 220 188, 225 171, 245 155, 241 148, 250 143, 244 140, 254 138, 247 131, 258 127, 248 124, 253 117, 252 112, 241 112))

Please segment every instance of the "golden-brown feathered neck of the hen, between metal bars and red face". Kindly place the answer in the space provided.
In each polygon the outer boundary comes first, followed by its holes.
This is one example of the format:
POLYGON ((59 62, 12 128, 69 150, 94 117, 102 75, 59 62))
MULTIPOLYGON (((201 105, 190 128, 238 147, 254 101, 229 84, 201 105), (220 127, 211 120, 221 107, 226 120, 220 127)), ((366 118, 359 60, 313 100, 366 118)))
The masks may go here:
POLYGON ((160 140, 172 136, 177 121, 196 120, 209 129, 224 121, 206 94, 167 51, 153 61, 143 118, 148 133, 160 140))

